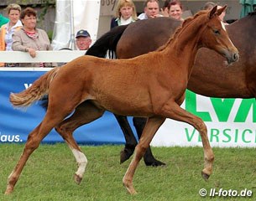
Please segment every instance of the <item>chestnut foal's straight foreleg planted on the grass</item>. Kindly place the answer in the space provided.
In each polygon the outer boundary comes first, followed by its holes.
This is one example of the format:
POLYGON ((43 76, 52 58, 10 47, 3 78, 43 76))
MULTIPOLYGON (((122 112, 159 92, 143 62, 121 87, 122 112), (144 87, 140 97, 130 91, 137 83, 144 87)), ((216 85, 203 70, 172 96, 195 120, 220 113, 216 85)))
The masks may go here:
POLYGON ((159 129, 159 126, 163 124, 165 118, 162 117, 150 117, 144 127, 143 134, 139 139, 138 145, 135 148, 135 154, 133 160, 130 163, 127 172, 123 177, 123 185, 128 189, 131 194, 136 193, 133 188, 133 175, 138 166, 138 162, 144 156, 146 149, 149 147, 149 143, 152 141, 155 132, 159 129))

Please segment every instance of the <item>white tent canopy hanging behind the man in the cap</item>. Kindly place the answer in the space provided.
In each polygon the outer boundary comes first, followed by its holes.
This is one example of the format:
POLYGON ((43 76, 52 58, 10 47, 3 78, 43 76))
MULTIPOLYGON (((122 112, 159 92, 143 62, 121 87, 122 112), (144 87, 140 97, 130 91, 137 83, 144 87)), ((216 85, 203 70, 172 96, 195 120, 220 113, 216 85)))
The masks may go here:
POLYGON ((54 50, 76 49, 75 37, 80 29, 86 29, 92 42, 96 41, 100 6, 99 0, 57 0, 52 40, 54 50))

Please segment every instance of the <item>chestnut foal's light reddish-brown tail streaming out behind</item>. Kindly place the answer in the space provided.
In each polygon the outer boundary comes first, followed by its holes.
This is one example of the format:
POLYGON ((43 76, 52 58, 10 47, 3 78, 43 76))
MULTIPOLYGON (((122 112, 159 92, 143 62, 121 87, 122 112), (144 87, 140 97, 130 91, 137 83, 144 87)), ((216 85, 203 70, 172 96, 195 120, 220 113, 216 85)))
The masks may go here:
POLYGON ((28 107, 34 103, 34 101, 39 101, 44 95, 48 94, 50 82, 58 70, 60 70, 60 68, 55 67, 53 70, 50 70, 46 74, 40 76, 38 80, 35 80, 28 89, 17 94, 11 93, 10 102, 13 106, 28 107))

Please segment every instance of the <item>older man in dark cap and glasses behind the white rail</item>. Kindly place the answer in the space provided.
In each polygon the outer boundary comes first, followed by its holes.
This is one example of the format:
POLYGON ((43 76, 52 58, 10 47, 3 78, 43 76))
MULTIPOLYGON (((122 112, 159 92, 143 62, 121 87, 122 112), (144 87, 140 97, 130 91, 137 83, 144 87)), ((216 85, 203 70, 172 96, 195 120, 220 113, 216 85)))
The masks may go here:
POLYGON ((91 36, 90 34, 81 29, 76 33, 76 46, 79 50, 87 50, 90 48, 91 45, 91 36))

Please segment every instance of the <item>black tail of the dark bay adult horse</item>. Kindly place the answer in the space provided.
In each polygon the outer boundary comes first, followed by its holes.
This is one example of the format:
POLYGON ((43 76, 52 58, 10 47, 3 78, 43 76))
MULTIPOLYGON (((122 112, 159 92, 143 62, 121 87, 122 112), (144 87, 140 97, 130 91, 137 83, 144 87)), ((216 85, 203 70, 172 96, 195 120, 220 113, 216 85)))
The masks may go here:
POLYGON ((114 59, 118 41, 127 27, 128 25, 118 26, 103 34, 102 37, 97 39, 95 44, 86 51, 86 55, 105 58, 108 50, 110 59, 114 59))

